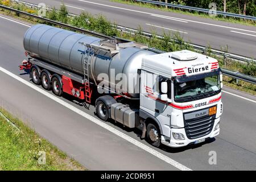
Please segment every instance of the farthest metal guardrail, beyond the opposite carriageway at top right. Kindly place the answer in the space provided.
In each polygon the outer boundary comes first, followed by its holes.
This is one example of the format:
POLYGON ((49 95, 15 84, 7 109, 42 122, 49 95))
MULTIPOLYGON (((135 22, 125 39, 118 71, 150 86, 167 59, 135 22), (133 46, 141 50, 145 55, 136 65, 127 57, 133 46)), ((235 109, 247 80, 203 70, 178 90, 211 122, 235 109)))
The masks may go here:
MULTIPOLYGON (((132 0, 132 1, 151 3, 151 4, 154 4, 154 5, 163 5, 163 6, 168 6, 168 7, 175 7, 175 8, 191 10, 191 11, 199 11, 199 12, 202 12, 202 13, 213 12, 212 10, 202 9, 200 7, 175 5, 175 4, 172 4, 172 3, 159 2, 159 1, 151 1, 151 0, 132 0)), ((250 20, 254 20, 254 21, 256 20, 255 16, 240 15, 240 14, 235 14, 235 13, 225 13, 223 11, 214 11, 214 14, 223 15, 223 16, 230 16, 230 17, 233 17, 233 18, 243 18, 243 19, 250 19, 250 20)))

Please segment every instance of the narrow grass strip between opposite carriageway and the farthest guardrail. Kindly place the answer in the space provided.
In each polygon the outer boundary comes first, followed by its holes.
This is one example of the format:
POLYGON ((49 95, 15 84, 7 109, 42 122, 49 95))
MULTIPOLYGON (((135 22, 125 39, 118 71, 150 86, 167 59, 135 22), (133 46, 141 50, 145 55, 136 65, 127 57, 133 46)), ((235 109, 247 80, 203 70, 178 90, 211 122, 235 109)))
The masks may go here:
POLYGON ((172 13, 180 13, 180 14, 199 16, 201 18, 210 18, 210 19, 214 19, 214 20, 221 20, 221 21, 224 21, 224 22, 240 23, 240 24, 245 24, 247 26, 256 26, 256 22, 253 21, 253 20, 235 19, 235 18, 232 18, 232 17, 222 18, 222 16, 209 16, 208 14, 199 13, 197 11, 189 12, 189 11, 186 11, 186 10, 166 8, 165 6, 157 6, 157 5, 154 5, 154 4, 151 4, 151 3, 132 2, 132 1, 129 1, 129 0, 110 0, 110 1, 118 2, 118 3, 124 3, 124 4, 127 4, 127 5, 146 7, 146 8, 149 8, 149 9, 158 9, 158 10, 162 10, 162 11, 169 11, 169 12, 172 12, 172 13))

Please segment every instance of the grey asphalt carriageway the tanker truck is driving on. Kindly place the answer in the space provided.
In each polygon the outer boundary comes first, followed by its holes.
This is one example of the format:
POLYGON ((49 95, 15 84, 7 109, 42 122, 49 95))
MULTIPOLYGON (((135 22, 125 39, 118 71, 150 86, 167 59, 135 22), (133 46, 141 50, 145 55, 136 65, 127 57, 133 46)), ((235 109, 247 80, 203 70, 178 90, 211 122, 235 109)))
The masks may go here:
MULTIPOLYGON (((28 75, 20 75, 18 71, 20 61, 25 58, 22 38, 27 28, 0 18, 0 67, 29 81, 28 75)), ((1 105, 24 121, 28 121, 40 135, 68 155, 74 156, 89 169, 175 169, 2 72, 0 72, 0 82, 1 85, 6 85, 6 88, 1 87, 0 90, 1 105)), ((247 96, 241 92, 233 90, 229 92, 256 100, 254 96, 247 96)), ((86 111, 72 101, 65 98, 61 100, 93 115, 93 107, 86 111)), ((167 147, 155 148, 155 150, 191 169, 255 169, 255 103, 226 93, 223 94, 223 102, 221 134, 215 141, 180 150, 167 147), (209 151, 217 152, 217 165, 209 165, 209 151)), ((125 130, 113 123, 108 125, 139 140, 133 131, 125 130)), ((144 140, 141 142, 149 146, 144 140)))

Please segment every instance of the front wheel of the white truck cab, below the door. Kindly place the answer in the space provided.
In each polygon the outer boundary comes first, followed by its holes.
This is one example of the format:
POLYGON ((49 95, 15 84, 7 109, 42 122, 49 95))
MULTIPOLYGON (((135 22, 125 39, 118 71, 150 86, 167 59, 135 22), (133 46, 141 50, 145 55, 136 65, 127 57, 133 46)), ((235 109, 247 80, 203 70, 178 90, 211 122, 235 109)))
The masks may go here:
POLYGON ((160 146, 160 130, 158 129, 155 123, 150 122, 147 125, 147 140, 148 143, 150 143, 154 147, 160 146))

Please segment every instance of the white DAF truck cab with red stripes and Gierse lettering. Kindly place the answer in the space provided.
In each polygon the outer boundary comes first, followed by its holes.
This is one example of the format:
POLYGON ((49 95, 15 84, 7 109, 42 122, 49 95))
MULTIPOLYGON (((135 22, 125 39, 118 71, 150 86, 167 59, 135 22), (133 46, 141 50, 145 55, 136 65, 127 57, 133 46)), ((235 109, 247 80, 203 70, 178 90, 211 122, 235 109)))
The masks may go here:
POLYGON ((216 59, 188 50, 145 56, 139 112, 158 123, 147 128, 151 143, 182 147, 216 137, 221 88, 216 59))

